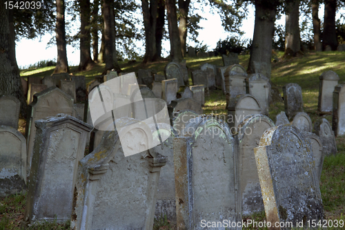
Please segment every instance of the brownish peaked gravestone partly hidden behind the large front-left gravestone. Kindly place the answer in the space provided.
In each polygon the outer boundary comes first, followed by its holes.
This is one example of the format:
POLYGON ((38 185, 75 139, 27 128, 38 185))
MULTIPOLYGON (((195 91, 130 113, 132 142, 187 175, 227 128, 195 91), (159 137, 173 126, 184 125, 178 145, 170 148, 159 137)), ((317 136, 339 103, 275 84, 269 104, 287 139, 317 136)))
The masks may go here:
POLYGON ((34 102, 29 104, 28 118, 26 120, 26 148, 28 150, 27 169, 30 172, 36 127, 34 121, 45 117, 55 116, 59 113, 75 116, 73 98, 56 87, 47 88, 34 95, 34 102))

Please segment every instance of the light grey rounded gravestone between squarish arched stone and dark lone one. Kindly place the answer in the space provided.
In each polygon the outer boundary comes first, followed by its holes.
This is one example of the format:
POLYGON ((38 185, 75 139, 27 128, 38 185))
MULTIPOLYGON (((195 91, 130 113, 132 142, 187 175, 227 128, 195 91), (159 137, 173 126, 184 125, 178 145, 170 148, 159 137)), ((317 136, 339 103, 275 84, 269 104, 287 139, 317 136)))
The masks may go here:
POLYGON ((270 82, 267 77, 261 73, 250 75, 249 79, 249 94, 253 95, 262 108, 261 114, 268 115, 270 107, 270 82))

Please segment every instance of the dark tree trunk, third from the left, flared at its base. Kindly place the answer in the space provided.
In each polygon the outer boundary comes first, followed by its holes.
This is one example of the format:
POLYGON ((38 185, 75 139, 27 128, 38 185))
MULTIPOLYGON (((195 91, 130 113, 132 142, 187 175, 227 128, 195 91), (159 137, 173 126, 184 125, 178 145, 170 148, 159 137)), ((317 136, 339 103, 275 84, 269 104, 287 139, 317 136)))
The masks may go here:
POLYGON ((78 70, 90 70, 94 62, 90 52, 90 0, 79 0, 80 4, 80 63, 78 70))

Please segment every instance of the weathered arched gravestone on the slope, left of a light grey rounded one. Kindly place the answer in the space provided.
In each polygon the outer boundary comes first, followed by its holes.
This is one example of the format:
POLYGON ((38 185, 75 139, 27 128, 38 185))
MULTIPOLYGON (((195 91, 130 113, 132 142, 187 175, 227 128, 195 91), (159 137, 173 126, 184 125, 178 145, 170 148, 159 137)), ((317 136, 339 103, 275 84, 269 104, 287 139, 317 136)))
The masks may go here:
POLYGON ((248 93, 246 70, 240 65, 233 65, 226 68, 224 72, 226 98, 248 93))

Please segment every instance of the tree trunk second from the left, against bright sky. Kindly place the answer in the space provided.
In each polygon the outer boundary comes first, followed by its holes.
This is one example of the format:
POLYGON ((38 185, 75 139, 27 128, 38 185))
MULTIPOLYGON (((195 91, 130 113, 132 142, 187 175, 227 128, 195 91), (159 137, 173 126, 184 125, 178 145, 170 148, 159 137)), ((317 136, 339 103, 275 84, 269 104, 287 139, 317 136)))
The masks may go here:
POLYGON ((66 52, 66 30, 65 30, 65 1, 56 0, 57 2, 57 66, 54 73, 69 73, 66 52))

